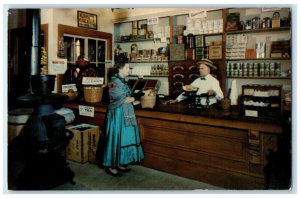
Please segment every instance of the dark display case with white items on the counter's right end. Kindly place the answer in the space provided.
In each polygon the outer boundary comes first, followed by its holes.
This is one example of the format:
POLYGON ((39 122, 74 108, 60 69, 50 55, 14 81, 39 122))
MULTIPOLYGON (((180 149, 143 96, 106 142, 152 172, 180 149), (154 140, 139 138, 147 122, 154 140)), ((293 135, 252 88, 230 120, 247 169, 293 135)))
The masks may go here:
POLYGON ((277 118, 281 114, 281 85, 243 85, 241 109, 243 116, 277 118))

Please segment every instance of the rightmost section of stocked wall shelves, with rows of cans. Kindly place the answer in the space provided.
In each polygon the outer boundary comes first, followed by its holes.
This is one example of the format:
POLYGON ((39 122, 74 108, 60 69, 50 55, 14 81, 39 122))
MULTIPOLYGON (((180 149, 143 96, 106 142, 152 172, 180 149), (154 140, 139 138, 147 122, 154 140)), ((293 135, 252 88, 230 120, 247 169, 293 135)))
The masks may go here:
POLYGON ((233 80, 239 93, 249 82, 291 89, 289 8, 230 8, 225 29, 227 90, 233 80))

